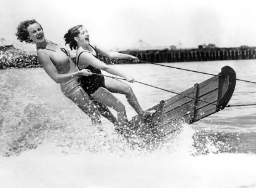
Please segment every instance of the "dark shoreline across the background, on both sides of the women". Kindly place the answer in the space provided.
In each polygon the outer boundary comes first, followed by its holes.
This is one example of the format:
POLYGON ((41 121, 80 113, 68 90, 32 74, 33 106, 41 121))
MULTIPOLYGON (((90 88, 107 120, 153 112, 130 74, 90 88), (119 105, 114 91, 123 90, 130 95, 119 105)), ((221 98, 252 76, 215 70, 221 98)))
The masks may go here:
MULTIPOLYGON (((118 51, 138 57, 150 63, 176 63, 190 61, 250 60, 256 58, 256 47, 236 48, 203 47, 198 49, 125 50, 118 51)), ((0 69, 41 68, 37 55, 30 54, 14 45, 0 46, 0 69)), ((113 60, 99 57, 107 65, 132 64, 130 60, 113 60)), ((74 61, 74 60, 73 60, 74 61)), ((145 63, 145 62, 140 62, 145 63)))

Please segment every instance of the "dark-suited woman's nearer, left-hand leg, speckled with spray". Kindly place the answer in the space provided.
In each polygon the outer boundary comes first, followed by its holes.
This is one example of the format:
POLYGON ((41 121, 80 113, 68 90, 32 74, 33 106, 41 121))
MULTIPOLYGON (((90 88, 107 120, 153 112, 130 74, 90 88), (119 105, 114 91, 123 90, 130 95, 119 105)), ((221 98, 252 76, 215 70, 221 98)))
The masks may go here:
POLYGON ((105 88, 98 88, 98 90, 90 95, 94 100, 99 103, 105 104, 118 112, 118 125, 127 125, 128 120, 126 116, 126 108, 115 96, 113 96, 105 88))

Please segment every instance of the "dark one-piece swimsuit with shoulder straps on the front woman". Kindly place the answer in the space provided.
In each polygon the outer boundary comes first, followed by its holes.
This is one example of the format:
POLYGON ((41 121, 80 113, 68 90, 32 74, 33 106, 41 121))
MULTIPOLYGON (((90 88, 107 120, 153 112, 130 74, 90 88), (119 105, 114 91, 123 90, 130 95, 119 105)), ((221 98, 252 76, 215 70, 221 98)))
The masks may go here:
MULTIPOLYGON (((90 47, 92 47, 92 45, 90 45, 90 47)), ((94 49, 94 47, 92 47, 92 49, 94 49)), ((96 52, 95 49, 94 51, 96 53, 96 56, 89 51, 83 51, 83 52, 91 53, 92 55, 94 55, 95 58, 98 58, 98 53, 96 52)), ((79 53, 78 61, 76 62, 76 66, 78 67, 79 70, 81 70, 78 65, 79 57, 83 52, 79 53)), ((86 69, 89 69, 93 73, 102 74, 102 71, 100 71, 100 69, 95 68, 94 66, 89 65, 86 67, 86 69)), ((105 79, 103 76, 98 76, 95 74, 92 74, 91 76, 81 76, 81 85, 82 85, 82 88, 84 88, 84 91, 90 95, 96 92, 99 87, 105 87, 105 79)))

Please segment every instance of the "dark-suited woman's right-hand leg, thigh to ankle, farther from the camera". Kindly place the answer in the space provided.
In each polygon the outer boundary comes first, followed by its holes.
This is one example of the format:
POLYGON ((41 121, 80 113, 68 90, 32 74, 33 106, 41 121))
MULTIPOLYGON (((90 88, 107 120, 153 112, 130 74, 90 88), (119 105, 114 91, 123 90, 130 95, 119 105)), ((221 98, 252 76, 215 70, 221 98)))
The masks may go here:
POLYGON ((138 104, 138 100, 132 90, 130 85, 121 82, 120 80, 112 79, 110 77, 105 77, 105 87, 113 93, 121 93, 126 95, 127 101, 134 108, 137 114, 145 115, 145 112, 138 104))

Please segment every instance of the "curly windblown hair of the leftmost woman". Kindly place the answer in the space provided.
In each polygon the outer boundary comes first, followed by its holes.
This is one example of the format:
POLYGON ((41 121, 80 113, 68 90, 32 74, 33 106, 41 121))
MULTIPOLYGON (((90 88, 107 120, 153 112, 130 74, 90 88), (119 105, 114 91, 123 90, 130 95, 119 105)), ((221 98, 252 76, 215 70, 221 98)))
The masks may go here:
MULTIPOLYGON (((17 27, 17 33, 15 35, 17 36, 18 41, 26 43, 33 43, 33 41, 29 38, 30 34, 28 33, 28 26, 32 25, 33 23, 38 23, 35 19, 33 20, 25 20, 23 22, 20 22, 20 25, 17 27)), ((38 23, 39 26, 40 23, 38 23)), ((42 28, 42 26, 41 26, 42 28)), ((43 29, 42 29, 43 30, 43 29)))

